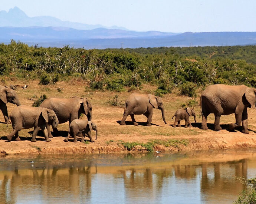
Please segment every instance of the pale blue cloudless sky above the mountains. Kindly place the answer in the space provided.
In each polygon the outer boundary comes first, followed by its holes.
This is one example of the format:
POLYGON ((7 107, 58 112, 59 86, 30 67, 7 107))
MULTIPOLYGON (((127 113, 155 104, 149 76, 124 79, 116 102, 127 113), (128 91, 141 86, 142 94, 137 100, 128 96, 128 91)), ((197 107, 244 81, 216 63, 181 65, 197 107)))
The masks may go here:
POLYGON ((28 16, 163 32, 256 31, 255 0, 0 0, 28 16))

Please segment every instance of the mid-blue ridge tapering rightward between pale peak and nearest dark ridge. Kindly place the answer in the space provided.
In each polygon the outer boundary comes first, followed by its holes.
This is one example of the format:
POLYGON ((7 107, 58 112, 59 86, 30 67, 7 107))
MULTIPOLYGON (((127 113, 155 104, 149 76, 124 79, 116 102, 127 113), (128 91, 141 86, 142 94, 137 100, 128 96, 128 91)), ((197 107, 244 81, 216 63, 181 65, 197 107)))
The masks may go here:
POLYGON ((97 28, 93 30, 76 30, 67 27, 0 27, 0 40, 9 42, 10 39, 22 42, 85 40, 85 39, 113 39, 134 37, 160 37, 170 36, 173 33, 157 31, 135 32, 120 29, 97 28))

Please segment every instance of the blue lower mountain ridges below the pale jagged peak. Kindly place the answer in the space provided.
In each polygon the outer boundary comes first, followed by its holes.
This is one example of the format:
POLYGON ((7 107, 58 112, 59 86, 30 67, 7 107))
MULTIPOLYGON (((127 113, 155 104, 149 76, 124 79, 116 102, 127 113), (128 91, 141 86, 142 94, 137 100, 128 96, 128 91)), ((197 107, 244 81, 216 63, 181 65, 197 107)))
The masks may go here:
POLYGON ((256 44, 256 32, 209 32, 182 33, 164 36, 164 33, 131 32, 124 30, 94 29, 75 30, 59 27, 0 28, 0 42, 20 40, 29 45, 62 47, 70 45, 98 48, 136 47, 188 47, 188 46, 233 46, 256 44), (118 33, 119 32, 119 33, 118 33), (156 36, 158 34, 158 36, 156 36), (119 37, 132 36, 132 37, 119 37))

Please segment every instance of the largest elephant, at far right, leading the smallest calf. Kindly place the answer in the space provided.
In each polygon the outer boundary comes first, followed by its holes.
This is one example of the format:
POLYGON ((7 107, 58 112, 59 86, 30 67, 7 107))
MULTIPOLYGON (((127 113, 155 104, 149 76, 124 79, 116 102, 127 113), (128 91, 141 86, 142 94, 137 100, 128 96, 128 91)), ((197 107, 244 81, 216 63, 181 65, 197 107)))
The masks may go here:
POLYGON ((233 130, 243 125, 243 133, 249 133, 247 129, 248 117, 247 108, 255 108, 256 89, 247 86, 229 86, 215 84, 208 86, 202 93, 200 104, 202 112, 202 129, 207 128, 207 116, 214 113, 214 129, 221 130, 220 116, 235 113, 236 123, 230 124, 229 129, 233 130))

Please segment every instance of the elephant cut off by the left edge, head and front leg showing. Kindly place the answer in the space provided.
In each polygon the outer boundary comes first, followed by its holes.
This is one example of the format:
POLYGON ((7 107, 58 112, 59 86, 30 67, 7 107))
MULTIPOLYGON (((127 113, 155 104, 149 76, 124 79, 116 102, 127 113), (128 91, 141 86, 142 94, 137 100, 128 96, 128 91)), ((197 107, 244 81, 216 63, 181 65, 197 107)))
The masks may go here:
POLYGON ((0 86, 0 99, 0 109, 4 115, 4 123, 7 124, 9 116, 6 103, 10 102, 17 106, 20 106, 21 104, 16 92, 13 89, 6 88, 5 86, 0 86))

